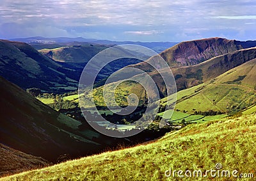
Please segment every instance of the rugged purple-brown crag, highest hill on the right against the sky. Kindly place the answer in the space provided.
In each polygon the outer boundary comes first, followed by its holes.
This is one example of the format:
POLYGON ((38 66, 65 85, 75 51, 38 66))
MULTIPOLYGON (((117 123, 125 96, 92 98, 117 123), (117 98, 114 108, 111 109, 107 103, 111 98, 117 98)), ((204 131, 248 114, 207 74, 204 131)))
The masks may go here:
MULTIPOLYGON (((225 38, 205 38, 178 43, 161 52, 159 55, 172 68, 186 67, 197 65, 216 56, 255 46, 256 41, 240 42, 225 38)), ((152 71, 152 68, 147 63, 139 63, 135 67, 147 72, 152 71)))

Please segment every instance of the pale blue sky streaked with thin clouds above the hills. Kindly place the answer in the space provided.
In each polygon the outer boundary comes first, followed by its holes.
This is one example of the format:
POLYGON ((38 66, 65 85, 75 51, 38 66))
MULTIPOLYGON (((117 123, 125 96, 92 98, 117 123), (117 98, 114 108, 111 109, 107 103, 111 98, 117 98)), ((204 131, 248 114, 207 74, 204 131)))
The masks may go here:
POLYGON ((256 40, 255 0, 1 0, 0 38, 256 40))

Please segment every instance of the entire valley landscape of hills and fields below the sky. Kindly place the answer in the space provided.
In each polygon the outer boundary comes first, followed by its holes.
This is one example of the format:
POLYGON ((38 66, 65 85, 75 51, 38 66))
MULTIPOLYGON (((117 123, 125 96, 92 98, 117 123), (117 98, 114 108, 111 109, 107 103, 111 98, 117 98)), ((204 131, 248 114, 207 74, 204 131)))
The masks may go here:
POLYGON ((256 41, 205 38, 164 50, 170 42, 144 43, 158 49, 172 70, 177 93, 172 90, 167 96, 161 75, 168 70, 150 66, 154 56, 146 61, 116 59, 102 68, 93 90, 78 93, 84 66, 118 42, 65 42, 61 38, 35 43, 35 37, 30 39, 20 39, 27 43, 0 40, 4 158, 0 180, 164 180, 170 166, 210 169, 218 162, 255 173, 256 41), (145 118, 147 107, 152 106, 147 90, 136 81, 127 81, 143 79, 144 74, 132 77, 131 72, 118 72, 131 67, 143 70, 156 84, 160 98, 152 105, 159 107, 152 117, 145 118), (114 72, 114 81, 106 82, 114 72), (115 99, 111 98, 113 90, 115 99), (138 98, 138 104, 131 104, 130 95, 138 98), (128 106, 132 113, 122 114, 128 106), (116 138, 108 136, 109 132, 115 132, 116 138), (124 134, 131 136, 122 138, 124 134), (44 168, 36 169, 40 167, 44 168), (14 173, 19 174, 4 177, 14 173))

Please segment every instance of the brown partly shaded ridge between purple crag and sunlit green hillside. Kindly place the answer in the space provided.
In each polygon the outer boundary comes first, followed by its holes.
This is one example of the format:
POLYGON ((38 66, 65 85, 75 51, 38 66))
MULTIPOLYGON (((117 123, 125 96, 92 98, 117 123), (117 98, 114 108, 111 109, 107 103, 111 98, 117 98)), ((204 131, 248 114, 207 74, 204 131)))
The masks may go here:
POLYGON ((205 83, 247 61, 256 58, 256 48, 242 49, 211 58, 198 65, 172 68, 177 90, 205 83))

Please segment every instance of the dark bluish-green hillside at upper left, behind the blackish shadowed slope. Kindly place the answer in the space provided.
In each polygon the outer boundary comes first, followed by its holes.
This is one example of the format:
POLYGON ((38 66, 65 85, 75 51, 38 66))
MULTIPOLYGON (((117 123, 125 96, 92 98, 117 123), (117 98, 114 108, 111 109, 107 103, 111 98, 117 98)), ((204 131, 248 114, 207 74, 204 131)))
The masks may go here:
MULTIPOLYGON (((76 89, 77 81, 71 72, 26 43, 0 40, 0 75, 21 88, 40 88, 45 91, 76 89), (66 73, 66 72, 65 72, 66 73)), ((74 71, 73 71, 74 72, 74 71)), ((63 90, 64 91, 64 90, 63 90)))

